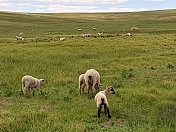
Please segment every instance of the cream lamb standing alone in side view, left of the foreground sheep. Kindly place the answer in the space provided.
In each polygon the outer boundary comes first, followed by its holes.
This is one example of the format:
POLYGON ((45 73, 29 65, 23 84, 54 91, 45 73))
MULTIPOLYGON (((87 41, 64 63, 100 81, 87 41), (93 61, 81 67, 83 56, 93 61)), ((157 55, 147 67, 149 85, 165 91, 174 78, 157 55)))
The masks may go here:
POLYGON ((43 86, 45 84, 44 79, 37 79, 29 75, 24 76, 21 81, 22 81, 22 91, 24 95, 26 95, 28 88, 31 88, 33 96, 34 96, 33 89, 36 88, 39 95, 40 86, 43 86))

